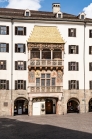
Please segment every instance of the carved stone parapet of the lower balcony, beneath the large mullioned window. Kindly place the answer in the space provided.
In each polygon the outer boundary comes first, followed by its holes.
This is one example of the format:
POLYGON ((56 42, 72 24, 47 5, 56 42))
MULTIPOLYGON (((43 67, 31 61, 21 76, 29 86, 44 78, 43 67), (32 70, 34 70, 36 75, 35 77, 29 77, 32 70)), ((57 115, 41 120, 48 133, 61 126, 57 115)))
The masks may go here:
POLYGON ((31 86, 28 87, 28 92, 29 93, 60 93, 63 92, 63 87, 62 86, 31 86))

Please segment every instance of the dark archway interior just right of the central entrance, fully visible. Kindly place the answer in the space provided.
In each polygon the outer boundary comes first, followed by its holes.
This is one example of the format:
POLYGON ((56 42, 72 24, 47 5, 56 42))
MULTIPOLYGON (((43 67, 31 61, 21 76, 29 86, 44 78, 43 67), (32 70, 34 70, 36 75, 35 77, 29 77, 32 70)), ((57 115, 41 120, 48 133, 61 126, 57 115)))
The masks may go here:
POLYGON ((69 100, 67 103, 67 113, 79 113, 79 102, 77 100, 69 100))

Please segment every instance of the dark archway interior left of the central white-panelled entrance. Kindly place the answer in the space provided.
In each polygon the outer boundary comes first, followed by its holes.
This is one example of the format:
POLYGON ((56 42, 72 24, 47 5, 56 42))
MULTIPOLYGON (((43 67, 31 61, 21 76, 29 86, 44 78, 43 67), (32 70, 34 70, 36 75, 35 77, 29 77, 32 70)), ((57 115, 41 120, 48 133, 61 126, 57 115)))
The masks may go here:
POLYGON ((28 100, 18 98, 14 102, 14 115, 28 114, 28 100))

